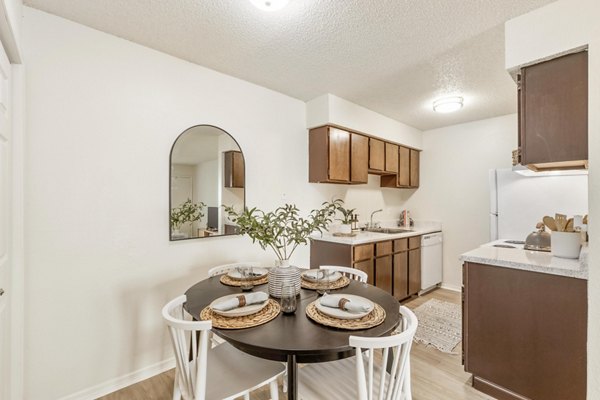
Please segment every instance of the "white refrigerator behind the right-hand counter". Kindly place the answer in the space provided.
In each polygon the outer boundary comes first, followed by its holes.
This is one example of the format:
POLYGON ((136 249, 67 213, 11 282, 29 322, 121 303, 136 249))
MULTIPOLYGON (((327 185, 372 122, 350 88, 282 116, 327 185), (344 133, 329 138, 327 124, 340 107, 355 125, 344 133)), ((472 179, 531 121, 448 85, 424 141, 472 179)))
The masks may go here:
POLYGON ((544 215, 585 215, 588 176, 523 176, 490 170, 490 240, 525 240, 544 215))

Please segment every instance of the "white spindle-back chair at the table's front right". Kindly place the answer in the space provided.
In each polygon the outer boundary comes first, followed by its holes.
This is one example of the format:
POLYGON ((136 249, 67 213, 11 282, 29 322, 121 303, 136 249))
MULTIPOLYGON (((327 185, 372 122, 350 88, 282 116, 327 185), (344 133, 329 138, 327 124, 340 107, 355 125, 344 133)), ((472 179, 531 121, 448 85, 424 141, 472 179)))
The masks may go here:
POLYGON ((356 356, 300 368, 300 399, 412 399, 410 349, 418 322, 407 307, 401 306, 400 314, 402 332, 385 337, 350 336, 349 343, 356 349, 356 356), (381 354, 375 353, 378 349, 381 354))

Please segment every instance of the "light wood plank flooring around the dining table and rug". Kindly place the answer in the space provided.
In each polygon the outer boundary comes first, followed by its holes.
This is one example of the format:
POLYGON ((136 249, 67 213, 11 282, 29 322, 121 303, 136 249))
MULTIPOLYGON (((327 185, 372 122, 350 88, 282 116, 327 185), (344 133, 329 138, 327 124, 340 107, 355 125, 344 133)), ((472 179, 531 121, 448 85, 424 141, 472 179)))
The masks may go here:
MULTIPOLYGON (((460 293, 437 289, 421 297, 411 299, 404 304, 415 308, 429 299, 444 300, 460 304, 460 293)), ((461 365, 459 354, 445 354, 433 347, 414 343, 411 352, 412 395, 414 400, 461 400, 492 399, 471 387, 471 376, 461 365)), ((135 385, 126 387, 102 400, 171 400, 173 395, 173 370, 157 375, 135 385)), ((279 398, 285 399, 281 392, 279 398)), ((268 400, 268 389, 252 392, 252 400, 268 400)), ((350 400, 350 399, 349 399, 350 400)))

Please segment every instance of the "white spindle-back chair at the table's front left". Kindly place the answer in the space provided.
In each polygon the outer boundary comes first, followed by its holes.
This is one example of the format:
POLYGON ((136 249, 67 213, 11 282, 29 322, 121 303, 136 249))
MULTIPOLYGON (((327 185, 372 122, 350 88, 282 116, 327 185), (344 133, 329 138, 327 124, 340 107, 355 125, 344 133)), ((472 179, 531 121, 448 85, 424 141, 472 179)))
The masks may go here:
POLYGON ((278 400, 277 378, 283 364, 246 354, 229 343, 209 347, 211 321, 192 321, 183 309, 186 296, 171 300, 162 309, 175 352, 173 399, 213 400, 250 398, 250 391, 269 384, 278 400), (190 344, 191 343, 191 344, 190 344), (191 347, 191 349, 190 349, 191 347))

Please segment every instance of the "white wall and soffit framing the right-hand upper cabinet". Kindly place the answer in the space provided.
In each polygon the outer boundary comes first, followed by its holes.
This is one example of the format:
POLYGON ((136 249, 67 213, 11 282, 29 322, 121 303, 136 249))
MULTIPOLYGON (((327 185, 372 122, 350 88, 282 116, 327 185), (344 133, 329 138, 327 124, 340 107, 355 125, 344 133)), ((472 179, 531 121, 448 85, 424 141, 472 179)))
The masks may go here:
POLYGON ((506 23, 506 66, 588 45, 589 279, 587 397, 600 398, 600 2, 560 0, 506 23))

